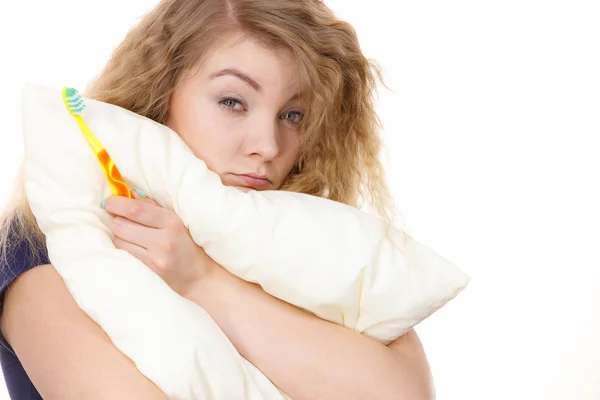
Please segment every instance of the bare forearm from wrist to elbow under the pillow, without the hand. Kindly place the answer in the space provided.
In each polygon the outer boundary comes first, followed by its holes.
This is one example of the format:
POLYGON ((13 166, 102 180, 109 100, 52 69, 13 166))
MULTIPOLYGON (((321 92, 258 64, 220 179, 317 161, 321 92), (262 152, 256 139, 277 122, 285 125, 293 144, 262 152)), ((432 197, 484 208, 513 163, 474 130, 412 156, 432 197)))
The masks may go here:
POLYGON ((414 330, 386 347, 276 299, 221 267, 212 269, 187 297, 294 400, 435 397, 414 330))

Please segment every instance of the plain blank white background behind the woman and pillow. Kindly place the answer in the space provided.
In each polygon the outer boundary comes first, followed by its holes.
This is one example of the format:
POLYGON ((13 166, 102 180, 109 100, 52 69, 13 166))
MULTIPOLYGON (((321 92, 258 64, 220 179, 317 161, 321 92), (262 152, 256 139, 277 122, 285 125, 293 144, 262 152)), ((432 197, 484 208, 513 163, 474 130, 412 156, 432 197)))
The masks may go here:
MULTIPOLYGON (((154 4, 2 0, 2 204, 22 83, 84 88, 154 4)), ((417 327, 438 399, 600 399, 598 3, 329 4, 393 89, 379 110, 409 230, 472 277, 417 327)))

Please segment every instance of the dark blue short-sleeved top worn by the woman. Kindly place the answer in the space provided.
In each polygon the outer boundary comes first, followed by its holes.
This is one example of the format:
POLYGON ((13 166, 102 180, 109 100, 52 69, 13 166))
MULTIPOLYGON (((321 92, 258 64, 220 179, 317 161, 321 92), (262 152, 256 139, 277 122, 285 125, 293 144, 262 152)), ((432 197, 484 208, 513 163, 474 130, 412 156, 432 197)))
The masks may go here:
MULTIPOLYGON (((8 265, 0 265, 0 310, 4 307, 4 292, 23 272, 41 264, 50 264, 46 253, 41 262, 33 258, 27 240, 13 235, 8 246, 8 265)), ((33 386, 31 379, 23 369, 23 365, 12 347, 0 332, 0 365, 11 400, 41 400, 42 396, 33 386)))

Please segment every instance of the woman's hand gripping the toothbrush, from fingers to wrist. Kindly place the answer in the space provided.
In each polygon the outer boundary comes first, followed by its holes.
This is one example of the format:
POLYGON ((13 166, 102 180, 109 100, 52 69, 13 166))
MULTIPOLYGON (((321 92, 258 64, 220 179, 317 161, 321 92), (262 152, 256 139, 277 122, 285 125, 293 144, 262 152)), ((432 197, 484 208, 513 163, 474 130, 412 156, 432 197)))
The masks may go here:
POLYGON ((181 296, 217 264, 198 246, 177 214, 147 198, 110 196, 103 208, 115 218, 111 231, 116 248, 135 256, 181 296))

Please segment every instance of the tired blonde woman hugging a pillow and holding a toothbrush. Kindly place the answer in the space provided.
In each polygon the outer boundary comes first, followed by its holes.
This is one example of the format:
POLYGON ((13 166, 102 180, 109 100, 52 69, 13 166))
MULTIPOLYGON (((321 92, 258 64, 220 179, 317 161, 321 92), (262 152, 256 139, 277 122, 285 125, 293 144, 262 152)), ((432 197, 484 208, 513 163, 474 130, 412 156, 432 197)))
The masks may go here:
MULTIPOLYGON (((389 217, 377 77, 353 29, 321 1, 166 0, 87 95, 171 127, 225 185, 367 199, 389 217)), ((143 194, 102 206, 115 216, 115 246, 202 306, 293 399, 433 398, 414 330, 384 346, 271 297, 216 264, 143 194)), ((10 284, 2 362, 13 399, 165 398, 77 307, 49 264, 22 180, 1 237, 10 284)))

